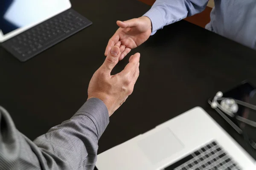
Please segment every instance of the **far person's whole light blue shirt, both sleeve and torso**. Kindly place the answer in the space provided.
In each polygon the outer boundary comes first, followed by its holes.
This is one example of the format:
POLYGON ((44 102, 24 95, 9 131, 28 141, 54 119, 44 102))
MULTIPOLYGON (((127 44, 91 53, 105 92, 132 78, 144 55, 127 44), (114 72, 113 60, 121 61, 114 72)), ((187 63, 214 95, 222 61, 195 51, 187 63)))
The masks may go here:
MULTIPOLYGON (((157 0, 144 15, 152 34, 166 25, 204 11, 208 0, 157 0)), ((206 28, 256 49, 256 0, 215 0, 206 28)))

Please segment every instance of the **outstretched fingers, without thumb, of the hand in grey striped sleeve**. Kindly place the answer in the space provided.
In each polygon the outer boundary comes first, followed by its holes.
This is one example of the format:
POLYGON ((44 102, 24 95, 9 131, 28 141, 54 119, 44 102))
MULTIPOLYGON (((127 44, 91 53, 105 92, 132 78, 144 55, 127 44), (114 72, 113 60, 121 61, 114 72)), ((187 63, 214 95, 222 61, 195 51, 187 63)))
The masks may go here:
POLYGON ((137 70, 137 66, 140 62, 140 53, 136 53, 133 56, 131 56, 131 59, 129 60, 129 63, 125 66, 125 69, 120 72, 121 76, 128 75, 129 77, 132 77, 137 70))

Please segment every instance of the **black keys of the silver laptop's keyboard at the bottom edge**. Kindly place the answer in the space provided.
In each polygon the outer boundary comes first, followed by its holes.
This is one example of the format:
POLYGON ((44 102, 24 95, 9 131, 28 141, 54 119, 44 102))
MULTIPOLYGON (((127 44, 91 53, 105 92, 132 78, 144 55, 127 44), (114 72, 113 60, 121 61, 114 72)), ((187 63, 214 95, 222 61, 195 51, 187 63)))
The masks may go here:
POLYGON ((210 142, 164 170, 241 170, 241 168, 217 142, 210 142))

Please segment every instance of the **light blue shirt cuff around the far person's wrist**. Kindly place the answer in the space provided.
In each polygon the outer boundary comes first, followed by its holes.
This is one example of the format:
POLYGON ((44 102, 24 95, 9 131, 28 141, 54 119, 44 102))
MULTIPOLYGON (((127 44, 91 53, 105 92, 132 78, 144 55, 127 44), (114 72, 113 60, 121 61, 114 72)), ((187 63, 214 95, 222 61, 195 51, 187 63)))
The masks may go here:
POLYGON ((148 17, 151 20, 152 24, 152 33, 154 35, 157 30, 163 28, 164 20, 160 11, 155 8, 151 8, 148 12, 146 12, 143 16, 148 17))

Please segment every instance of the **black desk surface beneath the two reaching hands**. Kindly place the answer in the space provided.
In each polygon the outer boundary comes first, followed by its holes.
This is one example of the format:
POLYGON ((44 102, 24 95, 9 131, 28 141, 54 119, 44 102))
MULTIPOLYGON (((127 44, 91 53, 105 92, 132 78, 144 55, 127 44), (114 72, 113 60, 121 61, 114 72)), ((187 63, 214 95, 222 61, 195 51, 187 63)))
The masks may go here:
MULTIPOLYGON (((86 101, 88 83, 105 59, 116 20, 140 17, 150 8, 136 0, 71 2, 92 26, 25 63, 0 48, 0 105, 30 139, 69 119, 86 101)), ((256 85, 256 51, 186 21, 166 26, 131 54, 137 51, 140 77, 134 93, 111 116, 99 153, 195 106, 245 146, 207 99, 244 79, 256 85)), ((114 72, 127 62, 128 57, 114 72)))

